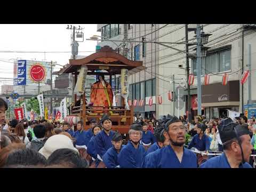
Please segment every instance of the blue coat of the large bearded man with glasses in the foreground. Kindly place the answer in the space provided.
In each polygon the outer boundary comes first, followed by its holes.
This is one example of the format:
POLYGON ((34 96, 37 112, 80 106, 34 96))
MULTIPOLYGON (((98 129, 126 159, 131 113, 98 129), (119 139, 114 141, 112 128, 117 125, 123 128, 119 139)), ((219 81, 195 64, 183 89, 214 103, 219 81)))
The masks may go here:
POLYGON ((196 168, 197 157, 196 155, 183 148, 183 156, 181 163, 175 154, 172 147, 166 146, 161 149, 157 149, 153 153, 148 154, 143 162, 145 168, 196 168))

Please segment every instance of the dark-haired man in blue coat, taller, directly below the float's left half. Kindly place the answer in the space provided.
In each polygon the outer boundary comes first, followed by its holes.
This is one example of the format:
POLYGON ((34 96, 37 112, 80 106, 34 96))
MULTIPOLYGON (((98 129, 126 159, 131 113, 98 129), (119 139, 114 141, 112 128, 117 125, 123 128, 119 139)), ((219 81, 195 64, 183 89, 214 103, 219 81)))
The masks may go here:
POLYGON ((103 115, 101 118, 103 130, 99 132, 94 139, 94 148, 97 151, 97 157, 102 162, 102 156, 112 147, 112 138, 115 134, 111 131, 112 122, 108 115, 103 115))

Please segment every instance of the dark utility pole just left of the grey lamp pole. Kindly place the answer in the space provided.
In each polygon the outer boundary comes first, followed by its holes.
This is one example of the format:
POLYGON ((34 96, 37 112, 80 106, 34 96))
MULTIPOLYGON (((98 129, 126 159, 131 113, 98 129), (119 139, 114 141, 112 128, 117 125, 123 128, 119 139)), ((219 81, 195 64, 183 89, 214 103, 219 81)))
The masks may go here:
MULTIPOLYGON (((188 43, 188 24, 185 25, 185 35, 186 35, 186 43, 188 43)), ((186 64, 187 64, 187 85, 188 85, 188 121, 191 122, 191 99, 190 99, 190 85, 188 83, 189 79, 189 59, 188 59, 188 44, 186 44, 186 64)))

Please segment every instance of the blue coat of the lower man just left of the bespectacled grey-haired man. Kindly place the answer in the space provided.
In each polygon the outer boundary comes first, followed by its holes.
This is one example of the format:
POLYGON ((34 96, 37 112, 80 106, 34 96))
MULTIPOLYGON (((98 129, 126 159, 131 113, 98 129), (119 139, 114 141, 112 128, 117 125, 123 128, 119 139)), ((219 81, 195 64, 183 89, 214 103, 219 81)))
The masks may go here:
MULTIPOLYGON (((120 151, 124 145, 122 145, 120 151)), ((107 168, 116 168, 119 167, 119 162, 118 162, 118 153, 115 149, 114 146, 109 148, 107 152, 102 156, 103 163, 106 165, 107 168)))

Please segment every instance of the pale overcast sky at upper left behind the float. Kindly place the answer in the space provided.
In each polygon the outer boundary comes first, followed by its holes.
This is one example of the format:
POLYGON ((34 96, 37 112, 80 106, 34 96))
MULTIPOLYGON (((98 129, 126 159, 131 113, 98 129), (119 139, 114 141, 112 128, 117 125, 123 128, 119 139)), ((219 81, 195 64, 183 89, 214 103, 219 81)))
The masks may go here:
MULTIPOLYGON (((71 24, 72 25, 72 24, 71 24)), ((76 24, 84 28, 84 39, 97 32, 97 24, 76 24)), ((66 65, 71 55, 71 30, 66 24, 51 25, 0 25, 0 85, 13 84, 3 78, 13 78, 13 59, 57 61, 59 65, 66 65), (44 53, 6 53, 3 51, 42 51, 44 53), (47 53, 63 51, 69 53, 47 53), (7 61, 7 62, 6 62, 7 61)), ((96 41, 79 43, 78 55, 89 55, 95 52, 96 41), (85 52, 82 52, 85 51, 85 52)), ((59 70, 56 66, 53 71, 59 70)), ((1 89, 1 88, 0 88, 1 89)))

